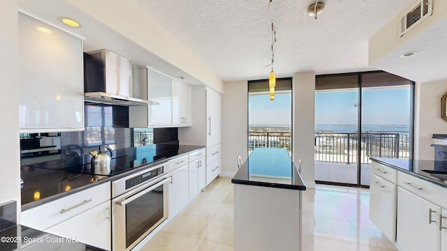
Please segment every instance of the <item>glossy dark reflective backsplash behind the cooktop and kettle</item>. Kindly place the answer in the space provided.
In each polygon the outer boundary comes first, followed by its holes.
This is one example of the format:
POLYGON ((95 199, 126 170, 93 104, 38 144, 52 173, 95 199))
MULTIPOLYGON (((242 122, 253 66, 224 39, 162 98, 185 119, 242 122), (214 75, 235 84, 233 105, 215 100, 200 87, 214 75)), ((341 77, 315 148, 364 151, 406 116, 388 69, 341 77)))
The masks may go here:
POLYGON ((50 164, 58 169, 82 165, 90 162, 89 151, 97 151, 98 147, 103 145, 110 146, 113 151, 112 158, 135 152, 143 154, 147 151, 155 151, 153 144, 163 143, 157 146, 158 151, 163 151, 161 148, 164 147, 178 147, 177 128, 129 128, 128 107, 86 103, 85 117, 84 131, 59 132, 50 135, 20 135, 21 139, 26 139, 21 142, 27 142, 27 144, 22 144, 21 150, 36 148, 34 153, 22 151, 21 165, 50 164), (52 145, 57 145, 56 150, 38 151, 39 146, 29 143, 38 142, 43 138, 52 138, 54 142, 57 140, 58 142, 52 143, 52 145))

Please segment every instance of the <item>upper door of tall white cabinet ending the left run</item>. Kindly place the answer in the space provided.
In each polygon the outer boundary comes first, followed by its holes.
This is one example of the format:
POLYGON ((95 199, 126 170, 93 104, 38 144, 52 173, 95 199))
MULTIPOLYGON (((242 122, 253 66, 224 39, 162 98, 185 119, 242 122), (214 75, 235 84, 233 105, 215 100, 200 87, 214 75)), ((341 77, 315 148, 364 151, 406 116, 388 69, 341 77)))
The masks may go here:
POLYGON ((221 143, 221 94, 206 90, 207 147, 221 143))

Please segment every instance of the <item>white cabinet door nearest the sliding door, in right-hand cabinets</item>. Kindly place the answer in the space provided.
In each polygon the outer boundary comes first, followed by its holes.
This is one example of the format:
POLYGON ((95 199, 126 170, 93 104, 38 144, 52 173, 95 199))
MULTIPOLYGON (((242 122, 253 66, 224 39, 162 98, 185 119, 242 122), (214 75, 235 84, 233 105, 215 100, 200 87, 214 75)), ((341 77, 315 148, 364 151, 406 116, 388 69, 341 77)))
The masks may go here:
POLYGON ((391 243, 396 233, 397 185, 372 174, 369 186, 369 219, 391 243))

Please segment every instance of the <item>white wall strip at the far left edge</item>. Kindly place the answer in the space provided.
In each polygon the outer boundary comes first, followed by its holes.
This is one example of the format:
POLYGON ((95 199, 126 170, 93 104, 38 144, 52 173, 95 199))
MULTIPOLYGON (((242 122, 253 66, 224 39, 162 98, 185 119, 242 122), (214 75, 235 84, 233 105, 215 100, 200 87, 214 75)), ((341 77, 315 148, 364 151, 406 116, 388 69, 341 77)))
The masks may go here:
POLYGON ((0 1, 0 204, 20 208, 19 84, 17 1, 0 1))

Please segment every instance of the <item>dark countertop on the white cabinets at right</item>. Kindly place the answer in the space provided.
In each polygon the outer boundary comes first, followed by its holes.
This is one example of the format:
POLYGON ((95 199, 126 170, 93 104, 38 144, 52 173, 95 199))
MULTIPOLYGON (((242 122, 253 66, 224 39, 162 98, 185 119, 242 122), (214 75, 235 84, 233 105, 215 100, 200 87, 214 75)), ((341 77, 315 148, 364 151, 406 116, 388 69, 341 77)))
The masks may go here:
POLYGON ((387 167, 447 188, 447 161, 370 158, 387 167))

